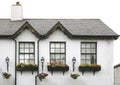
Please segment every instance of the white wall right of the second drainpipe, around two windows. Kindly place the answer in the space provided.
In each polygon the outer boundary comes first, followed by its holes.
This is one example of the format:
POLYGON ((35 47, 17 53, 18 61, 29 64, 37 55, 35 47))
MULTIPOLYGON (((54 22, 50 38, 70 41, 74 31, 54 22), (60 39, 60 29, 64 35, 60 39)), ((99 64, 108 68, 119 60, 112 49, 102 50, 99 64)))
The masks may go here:
POLYGON ((45 58, 44 72, 49 73, 49 76, 43 80, 43 85, 113 85, 113 41, 69 39, 64 33, 57 30, 49 36, 49 38, 41 40, 39 45, 39 55, 45 58), (69 65, 70 69, 64 76, 62 72, 54 72, 54 74, 51 75, 51 73, 47 71, 47 63, 50 60, 49 42, 51 41, 66 42, 66 64, 69 65), (84 75, 82 75, 82 73, 78 71, 78 66, 80 65, 80 42, 82 41, 97 42, 97 63, 100 64, 102 68, 101 71, 96 72, 95 75, 91 72, 85 72, 84 75), (80 74, 77 80, 73 80, 70 77, 72 73, 73 56, 77 59, 75 72, 80 74))

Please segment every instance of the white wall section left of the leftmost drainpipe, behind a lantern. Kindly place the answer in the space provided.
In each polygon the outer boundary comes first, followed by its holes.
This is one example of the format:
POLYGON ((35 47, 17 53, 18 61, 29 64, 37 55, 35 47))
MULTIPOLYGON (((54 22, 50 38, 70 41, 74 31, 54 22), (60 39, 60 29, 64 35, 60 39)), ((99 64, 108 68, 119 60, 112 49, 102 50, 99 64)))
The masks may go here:
POLYGON ((14 85, 15 81, 15 42, 9 39, 0 39, 0 85, 14 85), (9 57, 10 79, 3 79, 2 72, 7 72, 5 58, 9 57))

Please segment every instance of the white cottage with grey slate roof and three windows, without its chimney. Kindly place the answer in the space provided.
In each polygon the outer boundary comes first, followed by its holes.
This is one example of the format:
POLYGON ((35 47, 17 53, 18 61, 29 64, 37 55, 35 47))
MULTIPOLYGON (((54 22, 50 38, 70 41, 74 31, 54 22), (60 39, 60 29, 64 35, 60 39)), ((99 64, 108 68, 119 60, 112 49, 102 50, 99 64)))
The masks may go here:
POLYGON ((100 19, 0 19, 0 85, 113 85, 117 38, 100 19))

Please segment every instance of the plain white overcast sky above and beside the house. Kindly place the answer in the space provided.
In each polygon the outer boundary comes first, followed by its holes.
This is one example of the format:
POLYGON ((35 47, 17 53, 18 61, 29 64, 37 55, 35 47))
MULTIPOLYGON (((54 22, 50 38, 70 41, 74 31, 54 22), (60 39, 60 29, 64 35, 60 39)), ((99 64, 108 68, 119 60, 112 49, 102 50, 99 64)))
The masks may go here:
MULTIPOLYGON (((0 0, 0 18, 11 17, 11 5, 23 6, 23 18, 101 19, 120 35, 120 0, 0 0)), ((120 39, 114 41, 114 65, 120 63, 120 39)))

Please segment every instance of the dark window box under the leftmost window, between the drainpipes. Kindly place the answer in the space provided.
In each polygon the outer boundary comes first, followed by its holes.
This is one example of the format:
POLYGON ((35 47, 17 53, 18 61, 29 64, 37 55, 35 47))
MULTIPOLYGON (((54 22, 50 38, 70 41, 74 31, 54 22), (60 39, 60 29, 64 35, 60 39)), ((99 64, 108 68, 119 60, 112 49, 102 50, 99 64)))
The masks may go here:
POLYGON ((21 64, 18 64, 16 66, 16 70, 17 71, 21 71, 21 73, 22 73, 22 71, 32 71, 32 73, 33 73, 33 71, 37 71, 38 70, 38 65, 21 63, 21 64))

